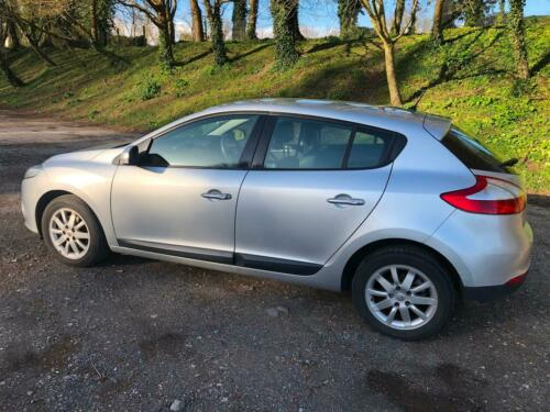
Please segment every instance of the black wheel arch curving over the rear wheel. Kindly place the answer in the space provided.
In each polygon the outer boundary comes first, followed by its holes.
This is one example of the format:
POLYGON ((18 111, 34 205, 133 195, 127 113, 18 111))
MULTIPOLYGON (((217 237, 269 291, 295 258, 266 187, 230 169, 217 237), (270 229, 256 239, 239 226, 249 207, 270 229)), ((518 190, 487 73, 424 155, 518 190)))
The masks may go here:
POLYGON ((341 279, 341 289, 346 291, 351 290, 351 285, 353 281, 353 277, 355 276, 355 271, 363 261, 363 259, 372 254, 374 250, 377 250, 383 247, 387 246, 415 246, 420 249, 424 249, 428 253, 430 253, 441 265, 443 265, 449 274, 451 275, 451 281, 453 285, 453 288, 458 293, 462 293, 462 288, 463 283, 460 278, 459 272, 454 268, 454 266, 451 264, 451 261, 443 256, 440 252, 436 250, 433 247, 430 247, 424 243, 416 242, 416 241, 410 241, 406 238, 385 238, 385 240, 380 240, 372 242, 367 245, 364 245, 361 247, 359 250, 356 250, 346 261, 343 272, 342 272, 342 279, 341 279))

